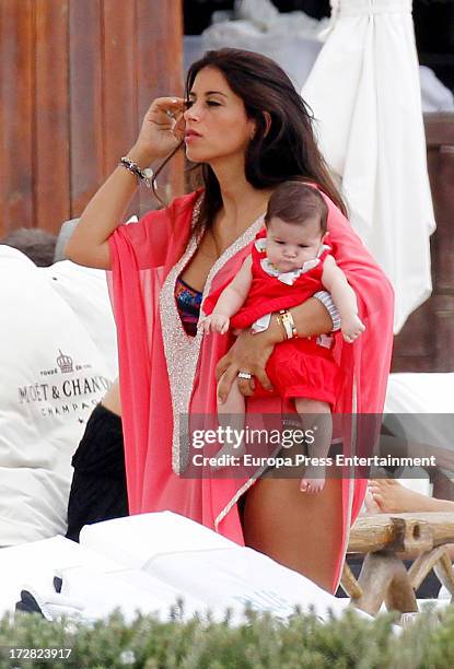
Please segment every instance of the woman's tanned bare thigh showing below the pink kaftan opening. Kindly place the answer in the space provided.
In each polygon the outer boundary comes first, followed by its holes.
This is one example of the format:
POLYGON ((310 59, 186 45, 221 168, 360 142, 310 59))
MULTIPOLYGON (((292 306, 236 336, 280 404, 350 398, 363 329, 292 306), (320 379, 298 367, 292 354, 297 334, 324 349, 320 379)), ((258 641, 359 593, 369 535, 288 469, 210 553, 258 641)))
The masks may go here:
POLYGON ((342 533, 341 480, 316 495, 300 479, 260 479, 246 493, 245 543, 331 591, 342 533))

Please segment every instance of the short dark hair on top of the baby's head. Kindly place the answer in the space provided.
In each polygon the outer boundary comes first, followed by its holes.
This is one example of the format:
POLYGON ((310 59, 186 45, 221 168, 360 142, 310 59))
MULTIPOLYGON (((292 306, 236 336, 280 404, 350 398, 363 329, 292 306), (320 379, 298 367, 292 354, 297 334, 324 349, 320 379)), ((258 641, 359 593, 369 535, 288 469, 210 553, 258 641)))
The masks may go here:
POLYGON ((280 219, 284 223, 303 224, 309 218, 319 216, 321 231, 324 235, 327 227, 328 207, 323 196, 313 186, 302 181, 283 181, 279 184, 269 198, 265 225, 271 219, 280 219))

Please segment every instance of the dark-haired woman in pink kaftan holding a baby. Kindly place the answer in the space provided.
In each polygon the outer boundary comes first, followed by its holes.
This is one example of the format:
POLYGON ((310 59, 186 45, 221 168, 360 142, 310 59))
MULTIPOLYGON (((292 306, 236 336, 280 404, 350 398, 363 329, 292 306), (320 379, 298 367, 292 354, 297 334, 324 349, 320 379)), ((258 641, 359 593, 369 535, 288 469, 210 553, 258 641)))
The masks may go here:
MULTIPOLYGON (((202 339, 189 332, 201 296, 238 270, 273 187, 291 177, 305 177, 325 193, 334 255, 357 292, 368 328, 361 343, 340 349, 350 382, 337 411, 382 409, 392 291, 345 219, 304 103, 273 61, 236 49, 210 51, 188 72, 186 101, 186 110, 183 99, 154 101, 126 159, 143 169, 184 138, 187 157, 202 165, 205 191, 117 227, 137 188, 133 174, 120 165, 89 203, 67 247, 71 260, 113 270, 129 509, 186 515, 334 591, 364 484, 329 479, 315 498, 300 492, 298 479, 179 476, 188 457, 188 444, 179 439, 185 415, 216 415, 214 371, 222 377, 221 398, 237 383, 251 398, 249 413, 289 409, 272 396, 251 397, 254 378, 271 389, 265 366, 284 337, 276 316, 254 337, 243 331, 236 340, 202 339), (185 308, 188 300, 191 313, 185 308)), ((300 337, 333 328, 315 297, 290 312, 300 337)))

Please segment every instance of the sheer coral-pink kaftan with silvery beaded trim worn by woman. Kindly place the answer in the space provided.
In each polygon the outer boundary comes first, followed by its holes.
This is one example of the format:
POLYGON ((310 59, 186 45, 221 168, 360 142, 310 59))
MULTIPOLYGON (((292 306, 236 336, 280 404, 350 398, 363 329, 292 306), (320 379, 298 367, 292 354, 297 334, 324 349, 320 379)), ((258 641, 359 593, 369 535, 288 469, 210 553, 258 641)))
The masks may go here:
MULTIPOLYGON (((187 457, 187 444, 179 439, 181 416, 216 415, 214 368, 232 343, 232 336, 188 337, 176 308, 176 279, 197 248, 191 224, 200 197, 198 191, 178 198, 166 210, 119 226, 109 239, 129 508, 132 514, 170 509, 243 544, 235 502, 254 480, 178 476, 187 457)), ((353 345, 338 347, 349 382, 336 411, 381 412, 392 350, 392 290, 348 221, 327 203, 333 255, 358 295, 368 328, 353 345)), ((261 226, 260 218, 216 261, 203 297, 238 271, 261 226)), ((253 399, 247 407, 257 413, 280 414, 283 409, 293 410, 277 397, 253 399)), ((333 589, 364 492, 364 481, 342 481, 344 540, 333 589)))

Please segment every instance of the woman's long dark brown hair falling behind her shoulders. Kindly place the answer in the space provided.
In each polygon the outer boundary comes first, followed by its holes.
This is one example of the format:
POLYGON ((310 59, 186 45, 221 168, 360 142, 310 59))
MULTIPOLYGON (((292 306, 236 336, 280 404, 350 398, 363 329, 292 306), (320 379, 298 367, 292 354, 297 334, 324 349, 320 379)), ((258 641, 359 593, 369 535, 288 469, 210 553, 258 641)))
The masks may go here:
MULTIPOLYGON (((245 154, 245 176, 257 189, 270 188, 303 177, 313 181, 344 212, 347 208, 338 192, 315 141, 307 105, 286 72, 270 58, 254 51, 219 49, 207 51, 187 73, 185 97, 203 68, 216 68, 232 91, 242 98, 246 115, 256 121, 256 132, 245 154), (271 125, 267 128, 267 111, 271 125)), ((205 186, 197 227, 211 225, 222 207, 218 178, 208 164, 198 166, 205 186)))

